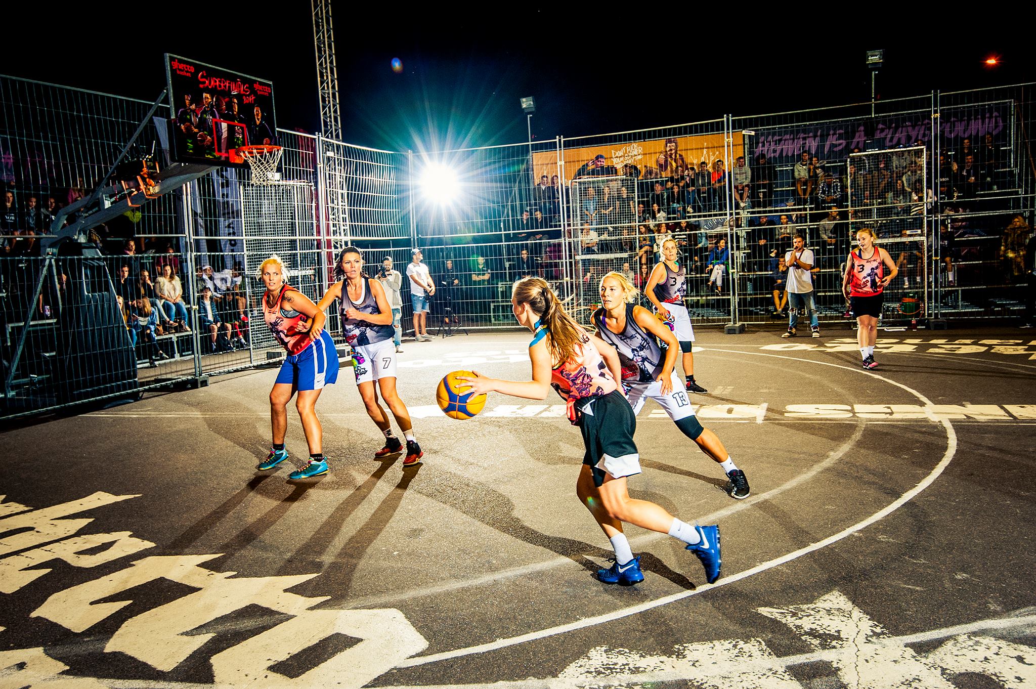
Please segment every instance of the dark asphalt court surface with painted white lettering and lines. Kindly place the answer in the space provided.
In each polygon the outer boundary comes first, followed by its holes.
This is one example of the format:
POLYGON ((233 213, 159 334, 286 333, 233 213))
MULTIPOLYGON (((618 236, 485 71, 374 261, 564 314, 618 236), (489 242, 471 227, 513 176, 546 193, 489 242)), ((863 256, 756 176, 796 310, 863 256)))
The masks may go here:
POLYGON ((372 459, 349 369, 309 483, 254 470, 275 370, 8 429, 0 689, 1036 686, 1029 333, 883 332, 868 372, 847 327, 699 328, 692 399, 752 495, 653 402, 630 488, 720 524, 712 585, 637 527, 645 580, 594 578, 558 399, 434 406, 449 371, 527 378, 524 333, 404 343, 418 468, 372 459))

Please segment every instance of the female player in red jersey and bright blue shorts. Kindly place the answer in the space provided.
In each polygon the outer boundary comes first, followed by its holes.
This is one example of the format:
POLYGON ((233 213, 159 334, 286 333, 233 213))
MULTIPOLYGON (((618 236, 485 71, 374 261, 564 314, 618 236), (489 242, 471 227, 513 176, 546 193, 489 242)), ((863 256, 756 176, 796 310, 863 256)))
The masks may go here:
POLYGON ((261 471, 271 469, 288 458, 284 435, 288 430, 288 402, 297 392, 295 408, 303 421, 303 431, 310 446, 310 461, 288 475, 289 479, 310 479, 327 472, 327 458, 321 450, 322 429, 316 404, 324 385, 338 379, 338 352, 330 336, 323 332, 325 316, 305 294, 287 283, 287 268, 275 254, 259 266, 259 278, 266 285, 262 312, 266 325, 288 356, 269 393, 270 425, 274 447, 261 471))

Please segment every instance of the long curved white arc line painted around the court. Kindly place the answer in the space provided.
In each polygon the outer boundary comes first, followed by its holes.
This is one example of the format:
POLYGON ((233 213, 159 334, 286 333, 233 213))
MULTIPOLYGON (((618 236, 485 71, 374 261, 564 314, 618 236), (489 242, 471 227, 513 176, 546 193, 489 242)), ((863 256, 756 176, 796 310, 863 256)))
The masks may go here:
MULTIPOLYGON (((874 373, 872 371, 858 370, 858 369, 855 369, 855 368, 850 368, 847 366, 843 366, 841 364, 832 364, 830 362, 814 362, 812 360, 802 360, 802 358, 798 358, 798 357, 795 357, 795 356, 786 356, 786 355, 781 355, 781 354, 769 354, 769 353, 765 353, 765 352, 744 352, 744 351, 733 351, 733 350, 724 350, 724 349, 714 349, 713 351, 723 351, 723 352, 727 352, 727 353, 731 353, 731 354, 750 354, 750 355, 753 355, 753 356, 772 356, 774 358, 789 358, 789 360, 794 360, 794 361, 797 361, 797 362, 809 361, 811 364, 818 364, 821 366, 830 366, 830 367, 833 367, 833 368, 845 369, 847 371, 855 371, 855 372, 858 372, 858 373, 864 373, 865 375, 871 376, 871 377, 876 378, 879 380, 883 380, 883 381, 885 381, 885 382, 887 382, 889 384, 895 385, 896 387, 899 387, 899 389, 901 389, 901 390, 903 390, 903 391, 905 391, 905 392, 914 395, 917 399, 921 400, 921 402, 925 406, 932 406, 931 400, 929 400, 927 397, 925 397, 921 393, 917 392, 916 390, 914 390, 912 387, 909 387, 908 385, 904 385, 904 384, 902 384, 900 382, 897 382, 895 380, 891 380, 889 378, 886 378, 885 376, 879 375, 879 374, 876 374, 876 373, 874 373)), ((946 420, 942 420, 939 423, 942 424, 943 428, 946 430, 947 448, 946 448, 946 453, 943 455, 942 460, 940 460, 939 464, 936 465, 936 467, 931 470, 931 472, 929 472, 928 476, 926 476, 924 479, 922 479, 920 483, 918 483, 916 486, 914 486, 914 488, 910 489, 909 491, 906 491, 905 493, 903 493, 902 495, 900 495, 897 499, 895 499, 893 503, 891 503, 890 505, 888 505, 884 509, 875 512, 874 514, 872 514, 871 516, 867 517, 866 519, 864 519, 862 521, 859 521, 856 524, 853 524, 852 526, 850 526, 847 528, 842 529, 841 532, 839 532, 837 534, 829 536, 826 539, 823 539, 821 541, 812 543, 812 544, 810 544, 808 546, 805 546, 803 548, 799 548, 798 550, 795 550, 795 551, 789 552, 787 554, 781 555, 780 557, 775 557, 775 558, 770 559, 770 561, 768 561, 766 563, 761 563, 760 565, 756 565, 755 567, 753 567, 751 569, 745 570, 743 572, 739 572, 739 573, 737 573, 737 574, 735 574, 732 576, 723 577, 723 578, 721 578, 720 580, 718 580, 715 583, 702 584, 701 586, 698 586, 697 588, 694 588, 693 591, 684 591, 684 592, 681 592, 679 594, 672 594, 672 595, 669 595, 669 596, 665 596, 663 598, 656 599, 654 601, 648 601, 648 602, 644 602, 644 603, 640 603, 639 605, 632 605, 632 606, 629 606, 629 607, 626 607, 626 608, 621 608, 618 610, 613 610, 611 612, 607 612, 607 613, 604 613, 604 614, 595 615, 593 618, 585 618, 585 619, 582 619, 582 620, 577 620, 575 622, 570 622, 570 623, 568 623, 566 625, 557 625, 555 627, 548 627, 546 629, 541 629, 541 630, 538 630, 538 631, 535 631, 535 632, 528 632, 526 634, 520 634, 518 636, 512 636, 510 638, 505 638, 505 639, 496 639, 495 641, 490 641, 488 643, 480 643, 478 645, 468 647, 466 649, 457 649, 457 650, 454 650, 454 651, 443 651, 441 653, 430 654, 430 655, 427 655, 427 656, 416 656, 414 658, 408 658, 407 660, 399 663, 398 667, 414 667, 414 666, 418 666, 418 665, 426 665, 428 663, 438 662, 440 660, 450 660, 450 659, 453 659, 453 658, 460 658, 460 657, 463 657, 463 656, 469 656, 469 655, 473 655, 473 654, 481 654, 481 653, 486 653, 486 652, 489 652, 489 651, 497 651, 499 649, 506 649, 508 647, 517 645, 519 643, 525 643, 526 641, 535 641, 535 640, 538 640, 538 639, 546 638, 548 636, 555 636, 557 634, 564 634, 566 632, 571 632, 571 631, 575 631, 575 630, 578 630, 578 629, 584 629, 586 627, 594 627, 596 625, 601 625, 601 624, 605 624, 605 623, 608 623, 608 622, 613 622, 615 620, 621 620, 623 618, 628 618, 630 615, 634 615, 634 614, 637 614, 637 613, 640 613, 640 612, 644 612, 646 610, 651 610, 651 609, 656 608, 656 607, 661 607, 663 605, 668 605, 669 603, 674 603, 677 601, 684 600, 685 598, 690 598, 691 596, 696 596, 696 595, 704 593, 707 591, 712 591, 713 588, 718 588, 720 586, 725 586, 727 584, 735 583, 735 582, 740 581, 742 579, 745 579, 747 577, 750 577, 750 576, 753 576, 755 574, 759 574, 759 573, 766 572, 767 570, 771 570, 771 569, 773 569, 775 567, 778 567, 780 565, 784 565, 785 563, 789 563, 789 562, 792 562, 794 559, 798 559, 799 557, 802 557, 803 555, 808 555, 809 553, 815 552, 816 550, 825 548, 825 547, 827 547, 827 546, 829 546, 829 545, 831 545, 833 543, 837 543, 838 541, 841 541, 842 539, 844 539, 844 538, 846 538, 848 536, 852 536, 853 534, 856 534, 857 532, 860 532, 862 529, 866 528, 867 526, 870 526, 874 522, 880 521, 881 519, 884 519, 888 515, 892 514, 893 512, 895 512, 896 510, 898 510, 900 507, 902 507, 903 505, 905 505, 906 503, 909 503, 911 499, 913 499, 915 495, 917 495, 918 493, 920 493, 921 491, 923 491, 925 488, 927 488, 928 486, 930 486, 931 483, 936 479, 938 479, 940 477, 940 475, 942 475, 942 472, 946 469, 946 467, 949 465, 949 463, 953 460, 953 456, 956 454, 956 451, 957 451, 957 434, 956 434, 956 431, 953 430, 953 425, 950 424, 950 422, 948 422, 946 420)))

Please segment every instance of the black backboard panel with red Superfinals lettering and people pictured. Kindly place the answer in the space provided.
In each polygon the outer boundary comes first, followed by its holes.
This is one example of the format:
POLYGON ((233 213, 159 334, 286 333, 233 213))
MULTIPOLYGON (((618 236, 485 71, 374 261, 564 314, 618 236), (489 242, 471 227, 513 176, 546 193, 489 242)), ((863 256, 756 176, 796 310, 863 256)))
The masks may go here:
POLYGON ((166 75, 174 162, 231 164, 235 148, 277 145, 271 82, 168 53, 166 75))

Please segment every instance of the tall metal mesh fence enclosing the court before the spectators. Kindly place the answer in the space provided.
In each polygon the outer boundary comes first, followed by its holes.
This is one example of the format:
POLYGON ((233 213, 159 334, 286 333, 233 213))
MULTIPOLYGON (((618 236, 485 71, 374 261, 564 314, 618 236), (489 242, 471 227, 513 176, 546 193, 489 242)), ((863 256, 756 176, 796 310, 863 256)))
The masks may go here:
MULTIPOLYGON (((317 299, 347 245, 372 277, 386 258, 401 274, 405 336, 414 249, 437 290, 429 333, 444 336, 514 327, 511 286, 530 275, 588 323, 601 276, 625 272, 642 290, 670 237, 696 324, 781 326, 781 258, 796 234, 815 256, 822 323, 841 321, 860 228, 900 270, 884 322, 1032 318, 1031 91, 420 153, 282 130, 281 183, 218 169, 48 255, 54 218, 93 192, 142 121, 131 154, 161 155, 168 113, 148 122, 142 101, 0 77, 0 418, 262 365, 280 351, 262 323, 259 263, 279 254, 317 299)), ((337 313, 328 329, 339 335, 337 313)))

